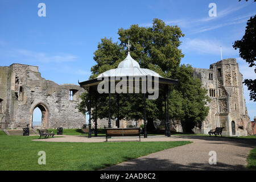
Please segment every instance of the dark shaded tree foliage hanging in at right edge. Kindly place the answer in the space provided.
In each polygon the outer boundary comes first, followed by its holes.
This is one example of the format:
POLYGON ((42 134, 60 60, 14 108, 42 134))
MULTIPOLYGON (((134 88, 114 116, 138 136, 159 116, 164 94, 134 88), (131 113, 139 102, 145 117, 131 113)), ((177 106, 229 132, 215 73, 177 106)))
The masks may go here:
MULTIPOLYGON (((255 67, 255 57, 256 57, 256 15, 251 17, 247 21, 247 26, 245 30, 245 35, 241 40, 234 42, 234 49, 239 49, 240 57, 244 59, 249 67, 255 67)), ((254 69, 256 73, 256 67, 254 69)), ((243 84, 247 85, 248 90, 250 90, 250 100, 256 101, 256 79, 245 79, 243 84)))

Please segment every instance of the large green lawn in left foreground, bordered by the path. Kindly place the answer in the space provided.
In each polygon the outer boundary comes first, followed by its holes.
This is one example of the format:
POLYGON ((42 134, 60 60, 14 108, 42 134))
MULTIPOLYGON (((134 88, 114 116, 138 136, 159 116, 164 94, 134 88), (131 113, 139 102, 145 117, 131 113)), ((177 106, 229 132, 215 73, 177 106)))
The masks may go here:
POLYGON ((97 170, 191 142, 38 142, 38 137, 1 136, 0 170, 97 170), (38 152, 46 152, 46 165, 38 152))

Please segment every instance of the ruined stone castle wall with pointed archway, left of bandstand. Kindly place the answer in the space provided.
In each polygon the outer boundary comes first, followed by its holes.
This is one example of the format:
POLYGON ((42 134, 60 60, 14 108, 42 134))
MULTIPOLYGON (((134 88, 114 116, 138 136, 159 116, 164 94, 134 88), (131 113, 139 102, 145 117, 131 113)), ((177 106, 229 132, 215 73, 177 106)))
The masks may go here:
POLYGON ((1 129, 31 127, 36 107, 42 111, 42 128, 81 128, 85 116, 76 107, 82 92, 79 85, 45 80, 35 66, 0 67, 1 129))

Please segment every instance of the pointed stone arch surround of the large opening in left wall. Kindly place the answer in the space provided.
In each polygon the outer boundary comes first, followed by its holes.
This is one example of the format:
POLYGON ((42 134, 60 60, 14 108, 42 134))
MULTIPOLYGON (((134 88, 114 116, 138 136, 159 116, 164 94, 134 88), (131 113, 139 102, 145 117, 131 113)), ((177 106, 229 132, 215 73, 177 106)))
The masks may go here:
POLYGON ((32 118, 33 118, 33 112, 34 112, 34 110, 36 109, 36 107, 38 107, 40 110, 41 110, 41 112, 42 112, 42 124, 41 124, 41 128, 44 128, 44 129, 47 129, 47 128, 49 128, 49 109, 48 109, 48 107, 45 105, 45 104, 43 104, 42 102, 39 102, 38 104, 36 104, 36 105, 34 105, 34 106, 32 106, 31 108, 31 111, 30 111, 30 113, 31 113, 31 126, 32 126, 32 118))

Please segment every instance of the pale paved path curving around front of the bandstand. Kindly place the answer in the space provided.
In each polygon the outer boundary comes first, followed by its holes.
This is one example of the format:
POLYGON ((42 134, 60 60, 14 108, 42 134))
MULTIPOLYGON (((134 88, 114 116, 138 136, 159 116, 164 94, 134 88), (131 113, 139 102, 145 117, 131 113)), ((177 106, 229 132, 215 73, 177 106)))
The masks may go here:
MULTIPOLYGON (((65 136, 60 138, 40 139, 47 142, 104 142, 105 137, 86 138, 65 136)), ((138 137, 113 137, 109 142, 138 140, 138 137)), ((246 158, 250 150, 256 147, 255 139, 234 139, 228 137, 201 136, 148 136, 142 142, 153 141, 192 141, 180 147, 155 152, 138 159, 105 168, 104 170, 246 170, 246 158), (209 164, 209 151, 216 151, 217 164, 209 164)))

